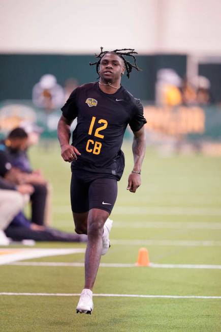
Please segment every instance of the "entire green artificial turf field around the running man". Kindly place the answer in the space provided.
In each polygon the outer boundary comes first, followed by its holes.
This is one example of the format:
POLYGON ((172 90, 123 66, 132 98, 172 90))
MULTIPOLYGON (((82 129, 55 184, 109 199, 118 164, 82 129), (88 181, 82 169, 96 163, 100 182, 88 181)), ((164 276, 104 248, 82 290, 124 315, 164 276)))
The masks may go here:
MULTIPOLYGON (((200 154, 162 157, 148 148, 142 185, 134 194, 126 190, 133 167, 130 145, 125 143, 123 148, 126 167, 111 214, 112 245, 102 262, 135 263, 139 248, 145 246, 153 263, 221 265, 221 158, 200 154), (119 244, 119 240, 129 242, 119 244), (139 244, 134 244, 134 240, 139 240, 139 244), (146 240, 170 242, 146 245, 146 240), (174 243, 182 240, 189 244, 174 243), (191 241, 212 242, 193 245, 191 241)), ((47 149, 33 148, 30 157, 34 167, 42 169, 52 185, 52 226, 72 232, 70 164, 61 160, 57 144, 47 149)), ((79 248, 85 244, 45 242, 35 247, 79 248)), ((83 263, 84 254, 27 261, 83 263)), ((0 275, 0 292, 80 293, 84 269, 2 265, 0 275)), ((221 296, 221 269, 100 267, 94 293, 221 296)), ((77 296, 1 295, 0 330, 194 332, 221 329, 220 299, 94 297, 93 301, 94 311, 90 316, 75 313, 77 296)))

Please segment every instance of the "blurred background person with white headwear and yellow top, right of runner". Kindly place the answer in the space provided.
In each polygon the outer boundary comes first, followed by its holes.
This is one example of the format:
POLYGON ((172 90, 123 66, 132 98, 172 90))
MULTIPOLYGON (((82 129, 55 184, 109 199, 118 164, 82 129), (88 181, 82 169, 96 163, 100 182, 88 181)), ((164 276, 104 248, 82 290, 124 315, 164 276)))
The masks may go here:
POLYGON ((156 104, 159 106, 178 106, 182 104, 180 87, 182 80, 175 70, 160 69, 155 85, 156 104))

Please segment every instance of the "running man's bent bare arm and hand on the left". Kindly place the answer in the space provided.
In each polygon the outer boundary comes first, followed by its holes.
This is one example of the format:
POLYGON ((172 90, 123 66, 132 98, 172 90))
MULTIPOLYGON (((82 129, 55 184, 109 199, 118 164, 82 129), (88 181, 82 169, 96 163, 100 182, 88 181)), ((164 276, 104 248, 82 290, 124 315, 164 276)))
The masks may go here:
POLYGON ((72 122, 73 120, 68 120, 64 115, 61 115, 57 125, 57 137, 60 142, 61 157, 69 162, 77 159, 77 155, 80 155, 78 149, 70 145, 72 122))

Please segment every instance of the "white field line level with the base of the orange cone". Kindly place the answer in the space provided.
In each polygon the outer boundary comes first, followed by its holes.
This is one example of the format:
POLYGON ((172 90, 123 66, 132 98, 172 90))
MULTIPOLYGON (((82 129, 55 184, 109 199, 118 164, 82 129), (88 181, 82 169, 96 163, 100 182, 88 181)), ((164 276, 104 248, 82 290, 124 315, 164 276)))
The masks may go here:
MULTIPOLYGON (((65 263, 65 262, 17 262, 7 265, 16 266, 68 266, 68 267, 84 267, 84 263, 65 263)), ((100 263, 100 267, 138 267, 135 263, 100 263)), ((221 269, 221 265, 206 264, 156 264, 150 263, 146 266, 150 268, 183 268, 183 269, 221 269)))

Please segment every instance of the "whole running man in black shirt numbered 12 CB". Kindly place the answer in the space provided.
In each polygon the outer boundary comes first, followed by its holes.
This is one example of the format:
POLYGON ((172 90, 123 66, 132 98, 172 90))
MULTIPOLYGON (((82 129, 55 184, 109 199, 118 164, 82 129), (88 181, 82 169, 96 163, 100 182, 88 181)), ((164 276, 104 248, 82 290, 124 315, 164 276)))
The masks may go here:
POLYGON ((123 134, 129 124, 133 133, 134 168, 127 189, 136 192, 141 185, 141 165, 145 154, 143 106, 120 85, 124 71, 128 78, 136 64, 134 49, 103 51, 95 63, 99 82, 76 88, 61 108, 57 134, 61 156, 71 162, 71 206, 75 231, 87 234, 85 253, 85 285, 77 305, 77 313, 91 314, 92 288, 101 255, 109 249, 112 220, 109 215, 117 197, 117 181, 124 169, 121 151, 123 134), (134 65, 125 60, 134 60, 134 65), (70 126, 77 118, 70 145, 70 126))

